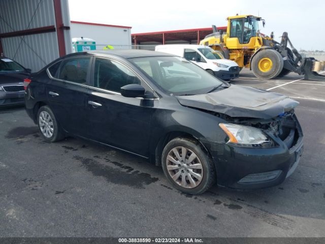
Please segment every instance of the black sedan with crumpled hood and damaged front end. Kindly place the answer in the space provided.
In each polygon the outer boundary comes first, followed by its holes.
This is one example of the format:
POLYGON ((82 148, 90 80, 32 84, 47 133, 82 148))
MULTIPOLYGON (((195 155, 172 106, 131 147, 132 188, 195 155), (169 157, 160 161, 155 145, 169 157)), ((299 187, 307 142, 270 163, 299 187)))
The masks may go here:
POLYGON ((45 140, 72 135, 146 158, 185 193, 275 186, 302 155, 298 102, 170 54, 74 53, 29 81, 26 111, 45 140))

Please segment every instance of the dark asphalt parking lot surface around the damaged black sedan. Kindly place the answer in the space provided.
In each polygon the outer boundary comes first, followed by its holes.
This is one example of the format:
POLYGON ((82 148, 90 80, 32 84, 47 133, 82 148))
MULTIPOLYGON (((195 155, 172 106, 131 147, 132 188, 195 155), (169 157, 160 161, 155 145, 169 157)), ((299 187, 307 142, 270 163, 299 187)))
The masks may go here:
POLYGON ((46 143, 23 107, 6 108, 0 236, 325 236, 325 82, 257 80, 243 70, 233 83, 300 102, 304 155, 280 186, 186 195, 141 158, 81 139, 46 143))

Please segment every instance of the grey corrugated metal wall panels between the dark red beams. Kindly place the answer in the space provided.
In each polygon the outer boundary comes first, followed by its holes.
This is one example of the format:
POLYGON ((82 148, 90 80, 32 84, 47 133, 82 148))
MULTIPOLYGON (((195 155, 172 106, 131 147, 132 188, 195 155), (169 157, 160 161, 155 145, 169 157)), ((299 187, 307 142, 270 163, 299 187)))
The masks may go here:
MULTIPOLYGON (((61 8, 64 24, 70 26, 68 1, 61 0, 61 8)), ((0 0, 0 34, 50 25, 55 25, 53 0, 0 0)), ((71 46, 70 31, 64 32, 71 46)), ((6 56, 33 72, 59 57, 56 32, 2 38, 2 44, 6 56)))

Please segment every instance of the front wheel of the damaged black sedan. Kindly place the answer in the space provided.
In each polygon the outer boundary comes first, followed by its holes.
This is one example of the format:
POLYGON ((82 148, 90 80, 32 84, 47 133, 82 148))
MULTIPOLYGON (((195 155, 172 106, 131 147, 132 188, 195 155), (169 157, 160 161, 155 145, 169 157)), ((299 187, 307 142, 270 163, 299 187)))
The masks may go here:
POLYGON ((174 188, 186 194, 201 194, 216 181, 211 158, 201 144, 193 139, 178 137, 168 142, 163 150, 161 163, 174 188), (185 160, 182 157, 183 152, 185 160))

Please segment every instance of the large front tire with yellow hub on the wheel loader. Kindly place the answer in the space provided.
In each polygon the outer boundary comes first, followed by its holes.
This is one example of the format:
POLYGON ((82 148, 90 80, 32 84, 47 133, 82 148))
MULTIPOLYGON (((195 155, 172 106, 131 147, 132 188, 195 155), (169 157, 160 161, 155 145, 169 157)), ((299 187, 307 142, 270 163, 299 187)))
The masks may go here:
POLYGON ((274 49, 259 51, 252 60, 251 68, 259 79, 272 79, 277 77, 283 69, 283 58, 274 49), (269 61, 271 60, 271 61, 269 61), (269 64, 269 65, 268 65, 269 64))

